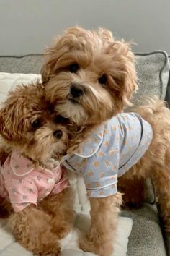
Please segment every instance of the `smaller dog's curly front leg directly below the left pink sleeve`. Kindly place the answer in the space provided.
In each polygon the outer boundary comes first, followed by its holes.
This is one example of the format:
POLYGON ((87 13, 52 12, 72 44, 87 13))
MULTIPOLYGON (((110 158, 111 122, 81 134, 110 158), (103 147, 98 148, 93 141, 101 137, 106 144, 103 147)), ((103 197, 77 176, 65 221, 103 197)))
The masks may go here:
POLYGON ((50 216, 32 205, 9 217, 8 225, 17 242, 35 255, 59 255, 58 237, 53 234, 50 216))

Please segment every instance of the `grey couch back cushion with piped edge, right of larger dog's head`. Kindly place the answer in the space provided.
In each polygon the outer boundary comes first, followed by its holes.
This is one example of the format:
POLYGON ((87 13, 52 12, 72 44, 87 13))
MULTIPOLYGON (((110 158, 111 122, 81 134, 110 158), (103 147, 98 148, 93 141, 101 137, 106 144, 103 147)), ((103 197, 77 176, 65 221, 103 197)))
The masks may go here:
POLYGON ((134 95, 133 102, 139 105, 151 95, 164 100, 170 69, 166 52, 155 51, 148 54, 135 54, 135 56, 139 89, 134 95))

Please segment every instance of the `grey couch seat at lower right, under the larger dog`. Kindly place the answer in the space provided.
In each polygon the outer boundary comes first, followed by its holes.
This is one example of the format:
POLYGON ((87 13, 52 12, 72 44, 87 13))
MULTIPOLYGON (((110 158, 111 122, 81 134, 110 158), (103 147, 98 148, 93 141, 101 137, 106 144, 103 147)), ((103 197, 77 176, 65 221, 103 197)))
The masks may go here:
POLYGON ((129 237, 128 256, 166 256, 155 205, 144 205, 138 210, 124 210, 122 216, 133 218, 129 237))

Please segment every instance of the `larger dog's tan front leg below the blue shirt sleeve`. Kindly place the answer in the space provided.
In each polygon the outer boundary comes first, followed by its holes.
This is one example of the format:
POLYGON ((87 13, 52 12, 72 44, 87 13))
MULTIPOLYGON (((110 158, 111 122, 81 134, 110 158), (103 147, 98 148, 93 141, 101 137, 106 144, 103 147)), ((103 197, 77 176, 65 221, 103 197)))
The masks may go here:
POLYGON ((109 197, 90 198, 91 228, 89 234, 79 241, 81 249, 100 256, 112 255, 121 203, 120 193, 109 197))

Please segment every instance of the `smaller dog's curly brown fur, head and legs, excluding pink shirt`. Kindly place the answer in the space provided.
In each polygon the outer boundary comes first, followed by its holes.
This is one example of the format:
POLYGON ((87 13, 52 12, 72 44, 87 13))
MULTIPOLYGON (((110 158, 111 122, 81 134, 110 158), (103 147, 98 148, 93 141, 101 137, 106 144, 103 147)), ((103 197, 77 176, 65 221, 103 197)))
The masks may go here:
MULTIPOLYGON (((0 109, 1 163, 12 150, 18 150, 35 166, 54 168, 66 151, 68 135, 66 127, 53 119, 40 83, 18 86, 9 93, 0 109), (32 127, 35 120, 40 121, 40 126, 32 127), (56 130, 63 132, 60 139, 54 136, 56 130)), ((8 198, 0 197, 0 205, 0 216, 9 217, 8 224, 17 242, 35 255, 60 254, 58 240, 68 234, 73 224, 71 189, 50 194, 37 208, 29 205, 19 213, 14 213, 8 198)))

